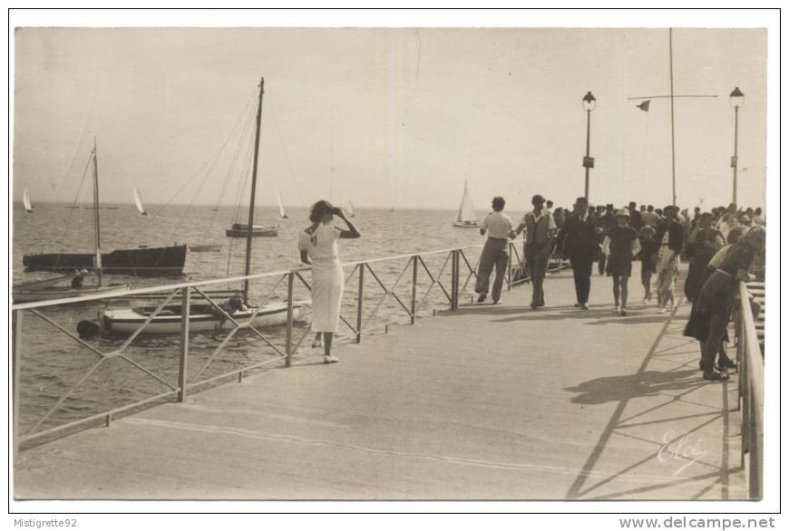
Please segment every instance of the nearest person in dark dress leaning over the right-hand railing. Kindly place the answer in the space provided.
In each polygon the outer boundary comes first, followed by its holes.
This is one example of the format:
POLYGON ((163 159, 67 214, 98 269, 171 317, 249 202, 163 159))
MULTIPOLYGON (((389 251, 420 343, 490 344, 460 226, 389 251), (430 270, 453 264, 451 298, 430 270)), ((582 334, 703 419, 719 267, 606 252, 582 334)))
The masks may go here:
POLYGON ((701 342, 701 369, 705 380, 727 380, 726 367, 716 371, 715 357, 726 333, 738 282, 748 280, 757 253, 765 248, 765 228, 751 227, 739 242, 721 248, 710 260, 715 271, 706 279, 685 327, 685 335, 701 342))

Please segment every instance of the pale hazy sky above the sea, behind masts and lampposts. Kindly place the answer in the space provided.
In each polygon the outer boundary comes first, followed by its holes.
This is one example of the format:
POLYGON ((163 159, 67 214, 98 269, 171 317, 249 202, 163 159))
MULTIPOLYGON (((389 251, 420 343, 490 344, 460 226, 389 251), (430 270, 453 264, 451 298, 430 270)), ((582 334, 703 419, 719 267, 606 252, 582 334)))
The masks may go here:
MULTIPOLYGON (((680 205, 731 198, 735 86, 740 203, 764 205, 765 62, 765 30, 674 31, 675 93, 718 96, 676 101, 680 205)), ((212 204, 223 160, 184 185, 265 76, 263 204, 279 189, 294 206, 456 208, 468 179, 478 209, 502 195, 522 210, 534 193, 569 206, 591 91, 591 201, 662 206, 669 102, 627 98, 667 94, 668 72, 667 29, 17 29, 14 198, 73 201, 95 135, 103 201, 184 188, 175 202, 212 204)))

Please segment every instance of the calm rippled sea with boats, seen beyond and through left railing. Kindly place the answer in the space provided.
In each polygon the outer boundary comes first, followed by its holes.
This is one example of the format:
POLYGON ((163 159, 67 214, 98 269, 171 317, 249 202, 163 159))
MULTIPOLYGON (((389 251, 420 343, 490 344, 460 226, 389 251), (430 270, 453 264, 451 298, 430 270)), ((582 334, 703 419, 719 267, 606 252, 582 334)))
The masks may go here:
MULTIPOLYGON (((54 252, 93 251, 93 210, 65 208, 63 204, 35 205, 33 213, 27 214, 21 205, 14 208, 13 273, 15 282, 46 278, 53 273, 26 273, 22 266, 24 254, 54 252)), ((108 205, 106 207, 113 207, 108 205)), ((132 205, 117 205, 117 208, 101 209, 102 251, 136 246, 164 246, 175 243, 200 245, 219 244, 218 253, 188 253, 184 275, 176 278, 135 278, 109 275, 105 281, 128 283, 133 287, 166 285, 184 280, 206 280, 232 275, 242 275, 246 240, 225 237, 224 230, 234 220, 244 221, 243 212, 234 208, 151 205, 149 216, 141 216, 132 205)), ((256 223, 278 225, 278 237, 254 239, 252 273, 266 273, 300 266, 297 251, 297 235, 309 225, 307 210, 288 208, 288 219, 279 219, 276 208, 259 208, 256 223)), ((484 213, 479 212, 482 216, 484 213)), ((521 212, 511 213, 517 219, 521 212)), ((424 253, 454 246, 475 246, 482 237, 475 229, 452 226, 454 212, 446 210, 385 210, 359 208, 352 221, 362 233, 357 240, 340 242, 340 257, 344 262, 424 253)), ((338 224, 342 224, 338 221, 338 224)), ((477 250, 468 253, 472 262, 477 250)), ((433 275, 442 268, 446 254, 425 256, 424 261, 433 275)), ((386 261, 373 265, 375 275, 390 287, 406 266, 406 259, 386 261)), ((351 273, 346 267, 346 275, 351 273)), ((442 282, 449 289, 449 265, 445 266, 442 282)), ((425 295, 420 314, 430 314, 433 308, 447 304, 441 288, 434 285, 428 292, 430 281, 423 271, 419 272, 417 299, 425 295)), ((406 306, 410 306, 412 272, 407 270, 394 293, 406 306)), ((309 275, 305 275, 307 282, 309 275)), ((287 283, 278 278, 255 282, 251 287, 253 303, 267 298, 272 301, 287 298, 287 283)), ((224 287, 218 285, 217 287, 224 287)), ((469 286, 472 291, 472 285, 469 286)), ((348 280, 344 303, 344 316, 356 325, 356 301, 358 276, 348 280)), ((383 332, 385 323, 406 323, 408 316, 394 297, 384 296, 374 275, 365 274, 365 331, 383 332), (383 298, 382 298, 383 297, 383 298), (380 304, 379 304, 380 303, 380 304), (375 308, 377 307, 377 310, 375 308), (375 314, 373 312, 375 311, 375 314), (377 327, 377 328, 376 328, 377 327)), ((308 298, 306 287, 299 285, 295 298, 308 298)), ((64 330, 75 333, 76 325, 83 319, 94 319, 104 305, 129 305, 128 301, 113 301, 68 304, 61 307, 43 308, 40 313, 64 330)), ((297 329, 298 339, 306 332, 304 325, 297 329)), ((30 430, 61 400, 63 394, 79 383, 62 405, 41 422, 37 430, 43 430, 69 420, 84 418, 148 398, 168 391, 166 383, 174 385, 178 374, 178 336, 138 336, 122 352, 123 356, 103 358, 87 347, 57 330, 52 323, 25 312, 23 315, 20 343, 21 358, 21 415, 23 430, 30 430), (139 365, 135 367, 132 362, 139 365), (83 380, 85 374, 93 372, 83 380), (153 373, 156 378, 146 373, 153 373), (158 379, 159 380, 158 380, 158 379)), ((284 331, 265 331, 275 344, 282 346, 284 331)), ((226 333, 192 334, 190 337, 190 381, 200 372, 199 380, 211 375, 222 374, 254 362, 276 356, 254 333, 236 334, 221 352, 219 344, 226 333), (204 367, 204 368, 203 368, 204 367)), ((341 324, 338 342, 351 341, 354 334, 341 324)), ((302 349, 309 348, 310 339, 305 339, 302 349)), ((111 353, 122 346, 121 339, 96 338, 88 342, 100 352, 111 353)))

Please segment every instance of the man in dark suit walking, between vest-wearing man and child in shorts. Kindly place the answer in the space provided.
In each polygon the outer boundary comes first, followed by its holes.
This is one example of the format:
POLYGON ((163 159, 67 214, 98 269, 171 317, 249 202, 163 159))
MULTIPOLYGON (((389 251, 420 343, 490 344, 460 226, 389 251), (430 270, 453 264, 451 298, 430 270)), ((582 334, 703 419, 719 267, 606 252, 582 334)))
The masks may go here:
POLYGON ((570 256, 572 276, 575 280, 575 294, 578 308, 589 310, 589 286, 591 266, 599 255, 597 221, 589 215, 586 198, 578 198, 575 211, 561 227, 558 246, 564 256, 570 256))

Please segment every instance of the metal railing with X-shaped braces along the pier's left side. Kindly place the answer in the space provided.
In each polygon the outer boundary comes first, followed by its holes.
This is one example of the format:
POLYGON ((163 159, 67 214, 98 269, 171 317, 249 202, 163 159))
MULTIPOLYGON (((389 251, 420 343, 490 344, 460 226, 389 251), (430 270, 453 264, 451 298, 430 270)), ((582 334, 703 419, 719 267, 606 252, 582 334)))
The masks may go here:
MULTIPOLYGON (((441 300, 445 299, 446 301, 446 303, 443 304, 449 304, 449 308, 451 310, 456 310, 460 305, 461 298, 463 297, 463 293, 465 292, 469 282, 473 277, 476 276, 476 270, 479 263, 479 258, 477 258, 476 263, 474 263, 472 266, 472 262, 469 260, 467 252, 472 249, 480 248, 482 248, 482 246, 458 247, 425 253, 415 253, 411 255, 387 256, 385 258, 360 260, 344 264, 344 267, 352 267, 351 272, 346 275, 346 285, 348 285, 349 282, 354 278, 354 275, 357 275, 356 282, 358 288, 356 293, 356 304, 354 304, 356 307, 356 315, 352 319, 347 319, 346 316, 341 314, 340 319, 342 323, 344 323, 351 333, 355 335, 356 343, 360 343, 362 341, 363 332, 369 332, 370 330, 381 327, 384 327, 385 332, 388 332, 389 326, 393 323, 398 323, 398 320, 402 319, 404 316, 407 317, 409 323, 416 323, 417 315, 424 307, 424 304, 426 304, 428 301, 429 295, 433 292, 437 294, 443 294, 441 300), (428 266, 426 262, 428 256, 437 258, 441 266, 433 266, 433 268, 428 266), (382 279, 384 275, 382 275, 380 271, 376 272, 376 266, 379 266, 385 262, 393 262, 398 260, 405 260, 405 266, 400 270, 399 275, 396 276, 394 283, 387 285, 382 279), (447 269, 449 269, 448 284, 446 283, 447 269), (420 283, 420 271, 423 271, 424 275, 426 275, 426 281, 423 278, 422 283, 420 283), (411 274, 406 275, 408 272, 411 274), (372 311, 367 314, 365 314, 365 273, 370 275, 370 277, 375 281, 375 285, 380 289, 381 292, 381 294, 375 300, 375 305, 372 311), (402 284, 409 284, 408 280, 405 280, 403 283, 404 278, 407 279, 409 276, 411 281, 409 290, 410 293, 407 297, 401 296, 402 294, 397 294, 395 290, 398 288, 398 286, 402 284), (418 294, 418 287, 423 288, 421 297, 418 294), (399 317, 395 316, 393 320, 385 321, 384 323, 374 322, 374 318, 379 313, 382 305, 387 299, 394 301, 394 307, 398 309, 398 311, 399 309, 402 309, 404 315, 401 313, 399 317)), ((517 255, 517 250, 515 253, 517 255)), ((508 269, 510 275, 509 278, 511 281, 511 267, 508 269)), ((186 282, 174 285, 127 289, 123 291, 115 291, 111 294, 88 294, 81 297, 59 299, 54 301, 14 304, 12 306, 12 372, 14 385, 13 407, 15 451, 20 449, 20 445, 30 442, 34 439, 52 437, 59 432, 63 432, 63 430, 74 429, 86 423, 102 421, 104 425, 109 426, 113 417, 117 417, 122 413, 128 413, 132 410, 140 409, 141 406, 148 405, 151 402, 165 401, 168 399, 171 400, 173 398, 175 401, 179 402, 187 401, 189 392, 200 386, 204 386, 209 382, 229 378, 236 378, 238 381, 241 381, 246 372, 268 366, 272 362, 280 361, 284 363, 285 367, 291 366, 293 358, 299 351, 301 343, 303 343, 304 339, 307 337, 307 334, 310 333, 310 328, 305 326, 304 330, 300 334, 297 334, 297 337, 294 337, 294 333, 297 332, 294 316, 294 310, 296 307, 295 303, 297 303, 296 291, 299 285, 297 283, 305 286, 307 290, 310 289, 310 285, 307 282, 305 275, 303 275, 309 270, 310 269, 307 267, 302 267, 259 275, 219 278, 200 282, 186 282), (258 307, 253 310, 252 315, 244 320, 235 318, 233 314, 226 310, 222 304, 219 304, 216 300, 214 300, 212 295, 207 290, 207 288, 211 285, 238 283, 244 280, 259 281, 261 279, 268 279, 272 281, 274 285, 263 297, 262 304, 259 304, 258 307), (287 281, 287 283, 285 281, 287 281), (275 340, 270 333, 264 333, 254 325, 254 320, 258 312, 264 308, 265 304, 268 304, 271 296, 282 285, 287 285, 287 316, 285 323, 284 346, 275 343, 275 340), (99 346, 89 343, 89 340, 83 339, 83 337, 80 337, 78 334, 70 332, 63 324, 57 323, 54 318, 43 313, 43 310, 46 308, 54 308, 68 304, 102 302, 110 299, 122 299, 125 297, 134 297, 140 295, 159 295, 163 300, 161 300, 161 303, 157 304, 150 313, 146 314, 145 320, 120 344, 120 346, 117 346, 117 348, 112 348, 109 352, 105 352, 99 348, 99 346), (200 369, 190 378, 190 319, 185 318, 185 316, 190 314, 190 306, 195 300, 200 300, 203 303, 209 303, 215 314, 219 317, 219 319, 221 319, 221 322, 229 325, 229 330, 221 339, 219 345, 216 346, 212 352, 210 352, 208 359, 202 363, 200 369), (154 321, 158 315, 162 314, 163 310, 168 304, 180 304, 180 332, 174 336, 179 338, 177 342, 178 371, 177 377, 170 380, 162 377, 153 370, 146 368, 140 362, 135 362, 132 359, 132 356, 128 353, 130 345, 132 345, 134 340, 140 336, 141 333, 144 333, 145 328, 152 321, 154 321), (23 433, 20 426, 20 375, 23 366, 24 347, 23 323, 26 322, 30 315, 41 319, 44 321, 44 323, 47 323, 57 332, 64 334, 80 348, 90 352, 94 356, 94 362, 85 372, 83 372, 81 377, 75 383, 73 383, 71 387, 64 391, 57 398, 57 400, 54 401, 54 405, 49 407, 41 418, 32 423, 32 428, 25 430, 23 433), (265 343, 266 346, 268 346, 268 349, 270 349, 270 351, 275 354, 274 357, 266 359, 262 362, 244 365, 241 368, 235 368, 229 372, 221 372, 218 375, 201 378, 209 365, 218 359, 221 352, 226 350, 230 340, 242 330, 247 330, 248 332, 253 333, 258 340, 260 340, 262 343, 265 343), (168 388, 168 391, 149 396, 143 400, 133 401, 132 403, 124 404, 120 407, 103 410, 100 413, 92 414, 82 419, 71 420, 51 428, 42 429, 45 422, 47 420, 51 420, 54 413, 62 408, 64 402, 66 402, 73 395, 73 392, 80 388, 80 386, 85 381, 87 381, 94 373, 96 373, 97 369, 102 366, 102 364, 107 363, 112 359, 122 360, 122 362, 125 362, 129 367, 132 367, 133 370, 135 370, 138 374, 144 375, 147 378, 151 378, 152 381, 155 381, 158 384, 168 388)), ((511 282, 508 282, 508 288, 510 286, 511 282)), ((346 299, 347 298, 348 297, 346 296, 346 299)), ((176 346, 175 340, 173 340, 172 343, 173 346, 176 346)))

